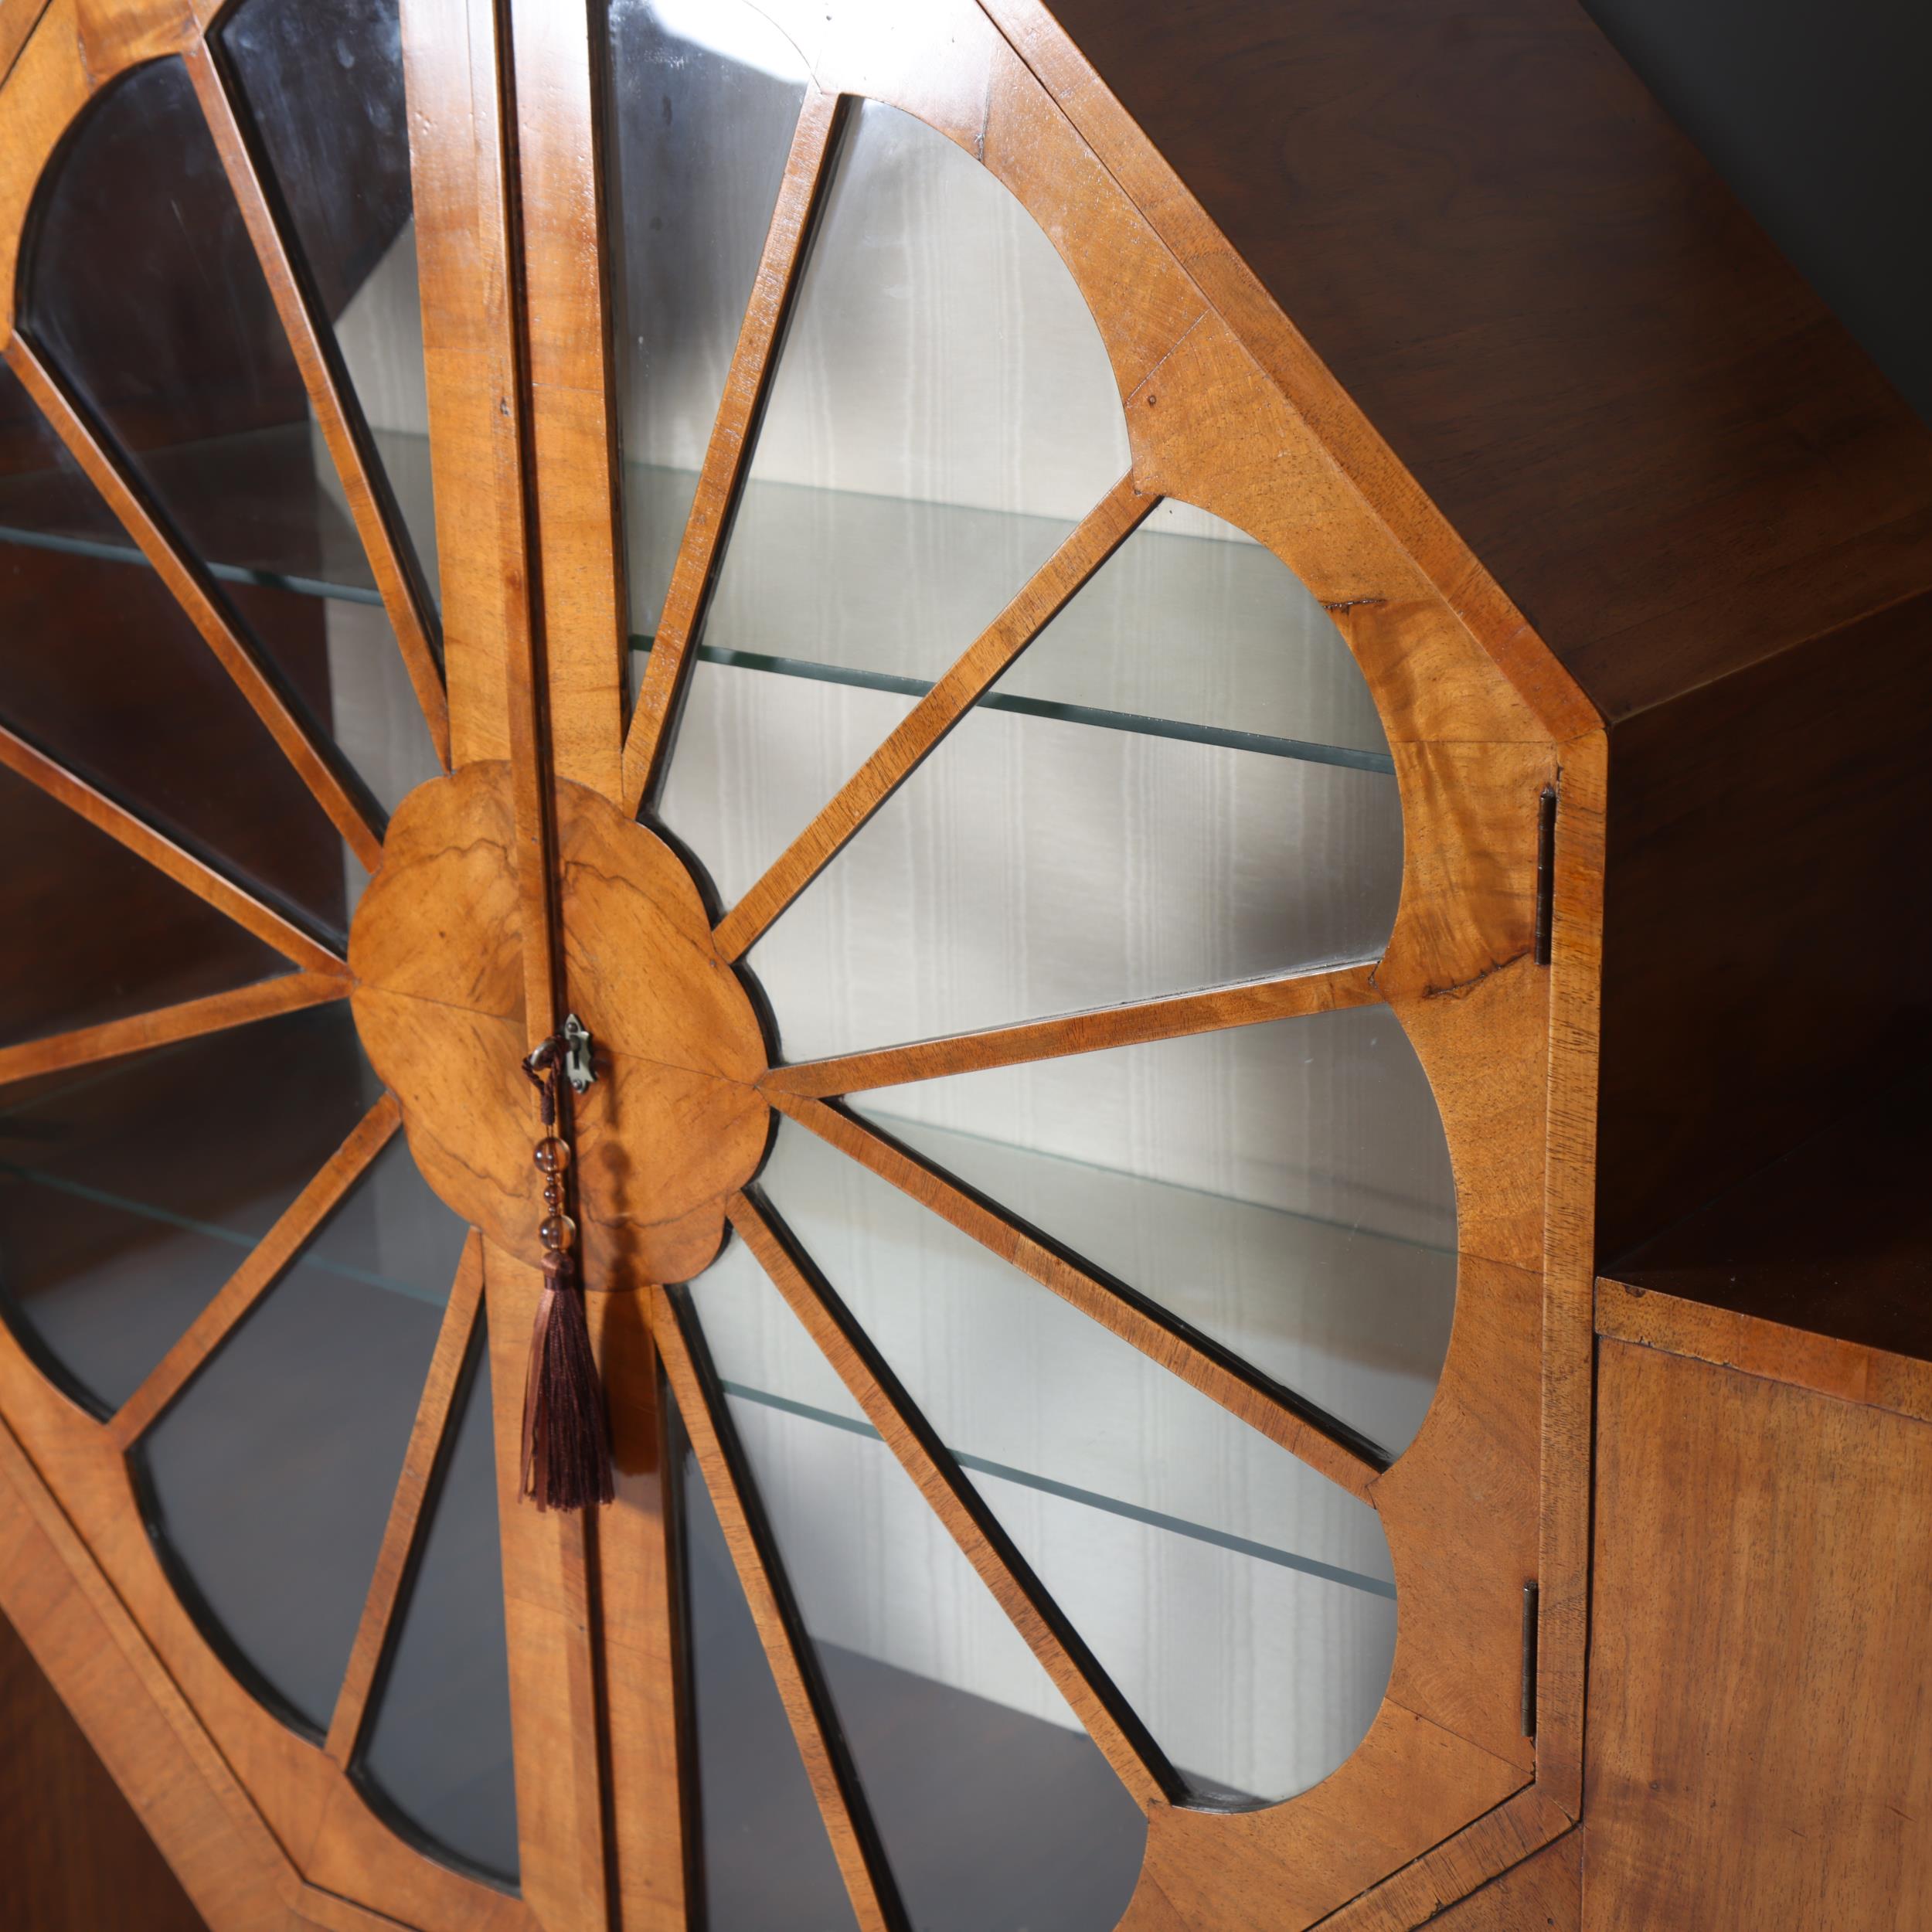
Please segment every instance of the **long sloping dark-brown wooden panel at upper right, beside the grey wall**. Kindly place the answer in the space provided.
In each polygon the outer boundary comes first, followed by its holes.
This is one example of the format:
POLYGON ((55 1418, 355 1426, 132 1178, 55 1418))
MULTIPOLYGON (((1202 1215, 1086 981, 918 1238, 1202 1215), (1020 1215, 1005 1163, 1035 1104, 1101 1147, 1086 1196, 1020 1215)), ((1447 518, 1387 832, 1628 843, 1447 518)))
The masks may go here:
POLYGON ((1580 6, 1051 12, 1607 717, 1932 583, 1926 427, 1580 6))

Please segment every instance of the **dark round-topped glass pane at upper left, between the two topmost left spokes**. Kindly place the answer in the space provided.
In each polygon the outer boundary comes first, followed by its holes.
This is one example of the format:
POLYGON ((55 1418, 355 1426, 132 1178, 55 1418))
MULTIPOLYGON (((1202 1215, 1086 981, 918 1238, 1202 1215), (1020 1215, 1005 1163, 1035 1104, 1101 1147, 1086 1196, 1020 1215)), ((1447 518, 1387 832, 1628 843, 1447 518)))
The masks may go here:
MULTIPOLYGON (((379 27, 363 21, 367 33, 357 31, 379 39, 379 27)), ((344 43, 350 54, 355 44, 344 43)), ((342 73, 340 52, 332 50, 319 70, 342 73)), ((371 54, 357 60, 357 71, 367 75, 377 64, 371 54)), ((315 77, 305 85, 313 87, 315 77)), ((325 185, 317 184, 315 193, 325 185)), ((185 545, 209 564, 238 630, 292 699, 330 730, 330 674, 340 670, 346 649, 338 632, 348 626, 357 639, 350 653, 355 659, 394 655, 396 645, 242 213, 178 60, 133 70, 81 116, 37 214, 23 327, 128 452, 185 545), (342 616, 317 599, 352 605, 357 614, 342 616)), ((390 218, 381 209, 369 218, 377 216, 390 218)), ((363 232, 365 224, 357 228, 352 205, 336 228, 363 232)), ((412 245, 408 232, 398 234, 383 263, 402 261, 408 269, 412 245)), ((400 296, 383 294, 400 270, 342 261, 336 274, 359 290, 344 323, 352 311, 400 317, 410 309, 400 296)), ((388 346, 381 369, 361 359, 379 394, 400 394, 410 384, 396 369, 406 371, 417 355, 417 336, 408 334, 406 321, 371 323, 365 334, 375 340, 384 330, 408 340, 388 346)), ((390 415, 402 419, 394 410, 390 415)), ((419 448, 404 452, 398 475, 423 475, 423 462, 419 448)), ((128 554, 124 547, 108 549, 128 554)), ((122 597, 139 595, 126 578, 110 582, 122 597)), ((185 626, 178 614, 170 622, 185 626)), ((342 696, 354 713, 361 699, 342 696)), ((392 732, 419 734, 413 713, 412 696, 392 732)), ((412 750, 412 767, 423 755, 427 738, 412 750)), ((367 782, 379 796, 396 794, 381 761, 367 782)))

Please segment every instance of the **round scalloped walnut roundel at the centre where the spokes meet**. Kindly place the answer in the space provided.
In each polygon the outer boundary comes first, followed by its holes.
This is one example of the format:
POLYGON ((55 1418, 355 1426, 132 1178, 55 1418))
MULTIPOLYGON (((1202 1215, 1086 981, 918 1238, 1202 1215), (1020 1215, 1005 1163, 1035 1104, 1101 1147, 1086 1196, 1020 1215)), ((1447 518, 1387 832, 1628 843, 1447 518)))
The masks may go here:
MULTIPOLYGON (((537 1262, 543 1177, 524 1074, 524 908, 510 767, 417 786, 350 931, 355 1026, 402 1103, 410 1150, 466 1221, 537 1262)), ((711 943, 705 902, 663 838, 556 786, 570 1005, 597 1043, 576 1101, 578 1221, 591 1289, 688 1281, 771 1132, 765 1037, 711 943)))

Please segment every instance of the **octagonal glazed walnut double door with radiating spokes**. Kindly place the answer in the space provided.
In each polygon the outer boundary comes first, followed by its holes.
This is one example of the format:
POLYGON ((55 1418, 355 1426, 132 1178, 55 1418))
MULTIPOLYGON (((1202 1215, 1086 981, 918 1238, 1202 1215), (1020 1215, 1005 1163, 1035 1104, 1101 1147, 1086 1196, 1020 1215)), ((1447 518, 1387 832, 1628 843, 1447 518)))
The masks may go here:
POLYGON ((1051 19, 0 25, 0 1588, 216 1932, 1559 1835, 1575 721, 1051 19))

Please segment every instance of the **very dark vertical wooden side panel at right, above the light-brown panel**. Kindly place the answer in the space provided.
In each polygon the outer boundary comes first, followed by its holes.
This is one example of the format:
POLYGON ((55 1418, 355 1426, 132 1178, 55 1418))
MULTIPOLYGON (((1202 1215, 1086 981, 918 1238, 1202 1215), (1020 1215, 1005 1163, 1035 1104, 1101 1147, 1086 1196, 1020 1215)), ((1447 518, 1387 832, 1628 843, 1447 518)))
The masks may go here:
POLYGON ((1926 1043, 1932 595, 1615 726, 1598 1254, 1926 1043))

